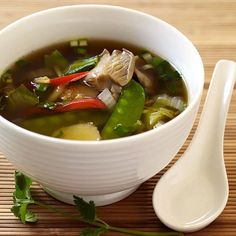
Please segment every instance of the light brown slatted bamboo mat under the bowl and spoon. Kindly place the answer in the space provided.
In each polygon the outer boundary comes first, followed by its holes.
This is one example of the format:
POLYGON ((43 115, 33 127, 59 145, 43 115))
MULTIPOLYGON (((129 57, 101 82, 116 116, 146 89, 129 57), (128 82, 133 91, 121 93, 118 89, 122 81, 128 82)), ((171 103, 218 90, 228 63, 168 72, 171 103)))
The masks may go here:
MULTIPOLYGON (((32 12, 59 5, 91 3, 91 1, 60 0, 0 0, 0 28, 32 12)), ((206 69, 203 99, 209 86, 214 64, 221 58, 236 61, 236 1, 235 0, 93 0, 92 3, 109 3, 125 6, 158 16, 186 34, 199 49, 206 69)), ((144 36, 145 37, 145 36, 144 36)), ((17 41, 17 38, 16 38, 17 41)), ((9 49, 10 50, 10 49, 9 49)), ((201 111, 202 105, 199 112, 201 111)), ((188 140, 178 153, 179 157, 188 146, 196 124, 188 140)), ((230 185, 228 204, 215 222, 204 230, 186 234, 193 236, 236 236, 236 92, 234 91, 228 114, 225 143, 225 162, 230 185)), ((59 215, 36 208, 39 222, 23 225, 10 212, 14 167, 0 154, 0 236, 26 235, 79 235, 83 225, 68 221, 59 215)), ((163 171, 162 171, 163 173, 163 171)), ((161 174, 162 174, 161 173, 161 174)), ((134 194, 106 207, 98 208, 101 218, 112 225, 146 231, 168 230, 156 218, 152 204, 152 192, 160 174, 144 183, 134 194)), ((39 185, 33 186, 35 198, 68 212, 73 207, 49 197, 39 185)), ((109 233, 108 235, 120 235, 109 233)))

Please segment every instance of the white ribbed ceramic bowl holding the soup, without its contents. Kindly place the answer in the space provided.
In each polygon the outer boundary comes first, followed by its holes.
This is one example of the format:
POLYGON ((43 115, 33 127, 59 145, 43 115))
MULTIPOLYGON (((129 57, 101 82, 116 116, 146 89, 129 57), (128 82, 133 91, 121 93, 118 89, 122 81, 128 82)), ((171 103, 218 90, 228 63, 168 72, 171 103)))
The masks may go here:
POLYGON ((183 74, 189 105, 158 129, 105 141, 70 141, 20 128, 0 116, 0 150, 59 200, 97 205, 121 200, 176 155, 193 125, 204 84, 202 60, 178 30, 147 14, 115 6, 77 5, 42 11, 0 31, 0 71, 20 57, 74 38, 129 42, 167 59, 183 74))

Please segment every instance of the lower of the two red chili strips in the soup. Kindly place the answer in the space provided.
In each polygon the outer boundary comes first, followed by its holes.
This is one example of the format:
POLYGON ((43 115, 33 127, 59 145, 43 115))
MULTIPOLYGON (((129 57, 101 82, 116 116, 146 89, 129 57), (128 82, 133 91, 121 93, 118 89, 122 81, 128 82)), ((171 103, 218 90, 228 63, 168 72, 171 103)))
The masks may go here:
POLYGON ((54 111, 55 112, 65 112, 65 111, 73 111, 79 109, 106 109, 106 105, 97 98, 85 98, 85 99, 75 99, 67 104, 58 105, 54 111))

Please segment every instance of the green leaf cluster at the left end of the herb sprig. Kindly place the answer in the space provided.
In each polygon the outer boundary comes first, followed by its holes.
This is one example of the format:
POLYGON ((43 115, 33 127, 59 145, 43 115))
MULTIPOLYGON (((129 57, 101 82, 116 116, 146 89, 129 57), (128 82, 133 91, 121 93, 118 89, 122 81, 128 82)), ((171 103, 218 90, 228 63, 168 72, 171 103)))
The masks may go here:
POLYGON ((13 193, 14 205, 11 212, 24 224, 26 222, 36 222, 36 216, 28 210, 28 206, 35 204, 30 193, 32 180, 19 171, 15 171, 15 191, 13 193))

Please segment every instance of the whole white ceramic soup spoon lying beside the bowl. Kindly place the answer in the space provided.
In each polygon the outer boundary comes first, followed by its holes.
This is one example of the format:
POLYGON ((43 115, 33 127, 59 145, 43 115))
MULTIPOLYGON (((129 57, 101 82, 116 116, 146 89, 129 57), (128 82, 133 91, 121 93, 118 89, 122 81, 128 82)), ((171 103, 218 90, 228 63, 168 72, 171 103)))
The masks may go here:
POLYGON ((190 146, 154 189, 154 210, 169 228, 200 230, 215 220, 227 203, 223 142, 235 80, 236 63, 219 61, 190 146))

